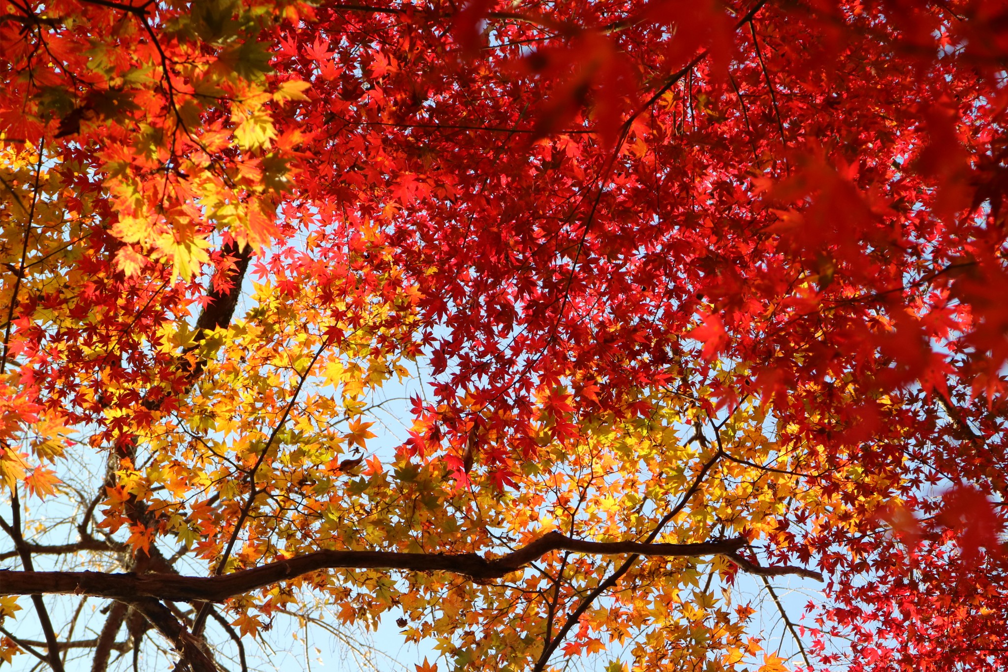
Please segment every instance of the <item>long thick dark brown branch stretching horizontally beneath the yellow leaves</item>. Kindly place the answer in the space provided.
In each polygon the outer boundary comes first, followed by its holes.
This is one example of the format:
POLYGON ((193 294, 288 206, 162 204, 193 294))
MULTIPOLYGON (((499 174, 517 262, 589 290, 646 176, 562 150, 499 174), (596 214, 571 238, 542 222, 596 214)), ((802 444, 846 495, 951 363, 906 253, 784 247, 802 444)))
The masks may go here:
MULTIPOLYGON (((746 571, 766 576, 800 574, 818 577, 799 567, 760 567, 737 555, 744 538, 715 539, 696 544, 637 541, 598 542, 572 539, 550 532, 527 546, 488 560, 476 553, 397 553, 392 551, 317 551, 300 557, 219 576, 181 576, 167 573, 105 573, 96 571, 4 571, 0 594, 87 594, 133 602, 145 597, 171 601, 223 601, 278 581, 323 569, 401 569, 448 571, 475 580, 501 578, 551 551, 595 555, 635 554, 649 557, 726 555, 746 571)), ((166 608, 165 608, 166 609, 166 608)))

